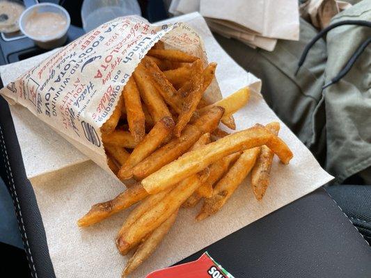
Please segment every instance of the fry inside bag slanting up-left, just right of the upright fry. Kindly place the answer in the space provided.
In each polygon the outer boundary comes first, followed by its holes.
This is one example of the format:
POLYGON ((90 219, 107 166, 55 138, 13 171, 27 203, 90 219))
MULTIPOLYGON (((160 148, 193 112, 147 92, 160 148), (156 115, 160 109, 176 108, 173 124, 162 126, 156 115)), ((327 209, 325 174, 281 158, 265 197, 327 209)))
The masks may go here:
POLYGON ((150 76, 145 71, 145 67, 139 63, 134 71, 134 79, 138 86, 141 98, 148 108, 148 112, 152 115, 155 122, 158 122, 163 117, 171 117, 170 111, 166 106, 164 99, 150 81, 150 76))

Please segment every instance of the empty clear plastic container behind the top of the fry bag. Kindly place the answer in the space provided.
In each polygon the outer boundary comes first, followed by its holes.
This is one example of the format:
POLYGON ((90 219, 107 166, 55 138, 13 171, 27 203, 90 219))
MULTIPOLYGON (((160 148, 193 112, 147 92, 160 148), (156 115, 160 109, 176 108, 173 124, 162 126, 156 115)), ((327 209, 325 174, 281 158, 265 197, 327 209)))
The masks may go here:
POLYGON ((86 33, 97 26, 125 15, 141 15, 136 0, 84 0, 81 8, 82 26, 86 33))

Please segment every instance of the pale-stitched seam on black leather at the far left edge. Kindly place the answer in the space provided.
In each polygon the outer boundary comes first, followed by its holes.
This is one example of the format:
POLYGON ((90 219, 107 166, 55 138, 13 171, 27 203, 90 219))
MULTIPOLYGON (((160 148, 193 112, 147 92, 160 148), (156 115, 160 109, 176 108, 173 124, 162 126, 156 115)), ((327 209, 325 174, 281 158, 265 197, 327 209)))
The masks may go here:
POLYGON ((13 206, 14 206, 14 209, 15 209, 15 214, 17 215, 17 222, 18 222, 19 231, 21 232, 21 234, 24 235, 24 239, 22 238, 23 245, 25 247, 24 249, 26 250, 26 253, 29 254, 29 259, 27 261, 29 262, 29 268, 31 270, 31 277, 38 278, 38 274, 37 274, 36 269, 35 269, 35 263, 33 263, 33 257, 32 257, 32 253, 31 253, 31 249, 30 249, 30 245, 29 245, 29 240, 28 240, 27 234, 26 234, 26 229, 24 227, 21 207, 19 206, 19 200, 18 200, 18 197, 17 197, 17 192, 15 191, 13 172, 12 172, 12 169, 10 167, 8 152, 6 151, 6 145, 5 145, 5 140, 4 140, 4 137, 3 137, 3 130, 1 129, 1 126, 0 126, 0 136, 1 136, 1 143, 3 145, 1 150, 3 152, 3 161, 4 161, 4 164, 6 166, 6 176, 8 177, 8 182, 10 183, 10 181, 11 181, 11 183, 12 183, 12 187, 10 187, 10 195, 12 195, 13 206), (19 220, 21 221, 21 223, 19 223, 19 220), (32 268, 31 268, 31 265, 32 265, 32 268))

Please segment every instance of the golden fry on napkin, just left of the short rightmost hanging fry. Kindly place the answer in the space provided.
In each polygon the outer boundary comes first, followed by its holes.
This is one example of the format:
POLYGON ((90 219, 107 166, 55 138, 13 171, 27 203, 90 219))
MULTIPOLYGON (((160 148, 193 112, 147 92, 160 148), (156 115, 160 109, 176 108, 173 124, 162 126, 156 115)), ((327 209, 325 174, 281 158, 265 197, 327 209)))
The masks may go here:
POLYGON ((216 213, 226 204, 227 200, 235 192, 239 184, 246 178, 251 168, 255 164, 260 152, 260 147, 246 149, 230 167, 227 174, 216 184, 210 199, 205 199, 205 203, 198 213, 196 220, 203 220, 216 213))

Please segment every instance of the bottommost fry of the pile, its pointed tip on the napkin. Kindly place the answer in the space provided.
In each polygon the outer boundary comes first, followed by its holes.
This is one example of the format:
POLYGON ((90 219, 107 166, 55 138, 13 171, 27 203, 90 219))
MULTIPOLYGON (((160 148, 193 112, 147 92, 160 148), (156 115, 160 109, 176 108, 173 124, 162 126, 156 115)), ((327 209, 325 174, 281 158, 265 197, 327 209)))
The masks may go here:
POLYGON ((157 246, 159 243, 161 243, 161 240, 164 238, 164 236, 166 236, 168 231, 173 226, 176 218, 177 211, 175 211, 175 213, 173 213, 167 220, 159 225, 155 231, 152 231, 152 234, 150 234, 145 241, 139 245, 132 258, 130 258, 125 265, 122 275, 123 278, 127 277, 127 275, 136 270, 136 268, 138 268, 143 261, 148 259, 148 257, 155 252, 157 246))

